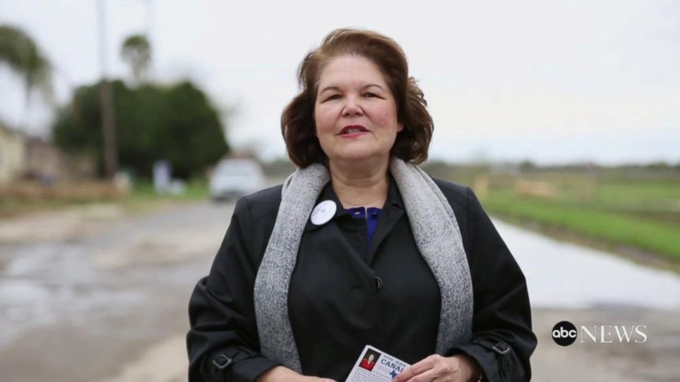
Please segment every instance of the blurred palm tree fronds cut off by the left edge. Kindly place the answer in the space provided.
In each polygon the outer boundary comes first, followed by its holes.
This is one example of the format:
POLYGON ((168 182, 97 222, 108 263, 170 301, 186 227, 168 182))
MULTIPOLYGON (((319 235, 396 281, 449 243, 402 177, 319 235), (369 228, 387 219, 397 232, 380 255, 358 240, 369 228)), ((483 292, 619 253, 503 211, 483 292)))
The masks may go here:
POLYGON ((0 63, 23 77, 26 105, 34 90, 53 101, 52 65, 36 42, 25 31, 11 25, 0 25, 0 63))

